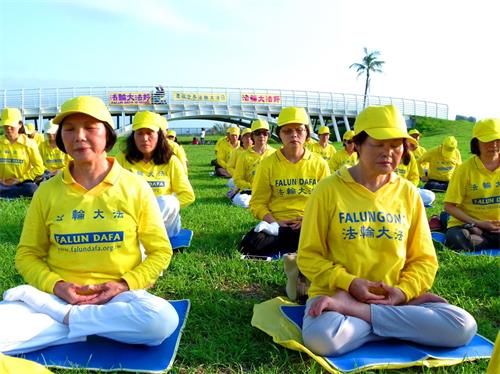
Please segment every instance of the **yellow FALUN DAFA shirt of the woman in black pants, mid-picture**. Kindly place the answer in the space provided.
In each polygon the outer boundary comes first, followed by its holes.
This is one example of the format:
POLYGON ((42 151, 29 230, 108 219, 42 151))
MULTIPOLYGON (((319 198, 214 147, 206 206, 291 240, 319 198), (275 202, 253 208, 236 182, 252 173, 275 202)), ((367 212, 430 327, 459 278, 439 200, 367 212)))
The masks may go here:
POLYGON ((307 149, 295 164, 278 150, 257 168, 250 210, 260 220, 269 213, 277 221, 302 217, 312 190, 329 174, 326 161, 307 149))

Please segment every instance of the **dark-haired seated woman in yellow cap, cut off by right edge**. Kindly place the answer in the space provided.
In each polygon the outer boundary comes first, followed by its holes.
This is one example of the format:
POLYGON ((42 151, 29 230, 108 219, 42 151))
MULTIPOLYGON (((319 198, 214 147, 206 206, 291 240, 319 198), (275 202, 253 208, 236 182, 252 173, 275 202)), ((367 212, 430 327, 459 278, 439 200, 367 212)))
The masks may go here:
POLYGON ((470 149, 473 156, 457 167, 444 197, 450 214, 445 245, 500 249, 500 119, 477 122, 470 149))

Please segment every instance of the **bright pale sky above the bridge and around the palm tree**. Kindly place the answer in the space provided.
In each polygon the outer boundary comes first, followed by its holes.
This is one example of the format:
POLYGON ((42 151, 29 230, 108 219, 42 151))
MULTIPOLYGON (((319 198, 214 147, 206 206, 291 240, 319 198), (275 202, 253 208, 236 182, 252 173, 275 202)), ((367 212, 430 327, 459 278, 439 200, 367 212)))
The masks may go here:
POLYGON ((0 88, 158 85, 363 93, 500 117, 498 1, 0 0, 0 88))

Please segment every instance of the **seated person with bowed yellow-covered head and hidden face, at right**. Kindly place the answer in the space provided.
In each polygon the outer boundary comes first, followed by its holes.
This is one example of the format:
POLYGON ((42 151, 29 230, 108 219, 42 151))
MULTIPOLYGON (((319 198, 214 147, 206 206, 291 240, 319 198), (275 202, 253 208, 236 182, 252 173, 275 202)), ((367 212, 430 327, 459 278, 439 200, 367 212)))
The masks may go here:
POLYGON ((447 136, 443 143, 425 152, 419 159, 420 167, 428 163, 427 175, 421 170, 420 175, 426 190, 444 192, 448 188, 455 168, 462 163, 462 156, 457 148, 457 139, 447 136))

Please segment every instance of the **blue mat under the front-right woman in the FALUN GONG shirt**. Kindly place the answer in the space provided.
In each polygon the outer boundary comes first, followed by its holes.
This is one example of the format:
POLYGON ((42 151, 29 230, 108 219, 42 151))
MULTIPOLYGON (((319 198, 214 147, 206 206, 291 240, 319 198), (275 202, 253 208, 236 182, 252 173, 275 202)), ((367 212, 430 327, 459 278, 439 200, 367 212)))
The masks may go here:
MULTIPOLYGON (((302 329, 302 318, 305 306, 281 306, 281 312, 299 330, 302 329)), ((476 335, 466 346, 459 348, 439 348, 410 343, 403 340, 390 339, 371 342, 337 357, 324 357, 337 370, 350 372, 364 367, 380 365, 408 364, 427 358, 438 360, 465 360, 491 357, 493 343, 476 335)))

